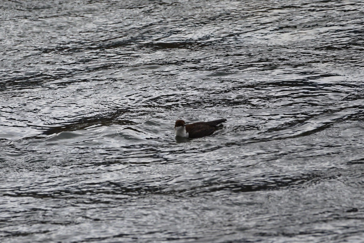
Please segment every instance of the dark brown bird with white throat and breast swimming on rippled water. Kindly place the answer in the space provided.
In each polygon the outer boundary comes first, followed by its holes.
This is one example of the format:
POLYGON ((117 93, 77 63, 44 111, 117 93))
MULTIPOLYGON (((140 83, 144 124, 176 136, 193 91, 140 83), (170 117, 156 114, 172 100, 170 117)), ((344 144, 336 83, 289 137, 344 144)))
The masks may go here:
POLYGON ((177 120, 174 125, 176 136, 183 138, 201 138, 209 136, 216 130, 215 127, 226 119, 213 120, 211 122, 196 122, 187 124, 183 120, 177 120))

